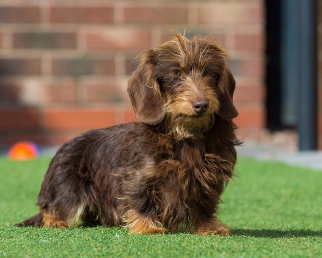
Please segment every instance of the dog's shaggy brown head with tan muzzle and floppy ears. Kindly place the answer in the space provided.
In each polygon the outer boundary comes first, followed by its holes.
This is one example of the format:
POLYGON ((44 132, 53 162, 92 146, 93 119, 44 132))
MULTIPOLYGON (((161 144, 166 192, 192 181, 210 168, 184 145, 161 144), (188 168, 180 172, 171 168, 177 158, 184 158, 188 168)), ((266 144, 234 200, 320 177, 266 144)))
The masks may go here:
POLYGON ((182 137, 202 133, 215 115, 237 116, 232 102, 234 78, 226 51, 207 37, 191 40, 175 33, 166 43, 137 56, 128 82, 136 117, 148 124, 163 120, 182 137))

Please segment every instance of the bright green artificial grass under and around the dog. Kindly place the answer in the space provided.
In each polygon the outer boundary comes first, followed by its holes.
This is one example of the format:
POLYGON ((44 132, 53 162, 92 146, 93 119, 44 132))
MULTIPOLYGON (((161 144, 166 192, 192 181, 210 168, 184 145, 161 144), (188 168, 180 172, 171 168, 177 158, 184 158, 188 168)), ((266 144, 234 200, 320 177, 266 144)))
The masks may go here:
POLYGON ((0 158, 0 257, 322 257, 322 172, 240 158, 220 218, 232 235, 133 235, 117 227, 20 228, 49 158, 0 158))

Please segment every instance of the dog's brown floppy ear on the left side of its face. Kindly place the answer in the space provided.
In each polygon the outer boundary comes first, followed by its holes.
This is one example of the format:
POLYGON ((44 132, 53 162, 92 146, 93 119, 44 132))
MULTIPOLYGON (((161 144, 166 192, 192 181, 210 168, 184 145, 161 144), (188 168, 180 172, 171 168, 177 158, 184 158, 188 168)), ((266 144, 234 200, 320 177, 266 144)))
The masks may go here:
POLYGON ((138 68, 127 85, 136 118, 148 124, 156 124, 165 116, 165 98, 156 78, 152 76, 152 52, 152 49, 144 50, 137 56, 138 68))

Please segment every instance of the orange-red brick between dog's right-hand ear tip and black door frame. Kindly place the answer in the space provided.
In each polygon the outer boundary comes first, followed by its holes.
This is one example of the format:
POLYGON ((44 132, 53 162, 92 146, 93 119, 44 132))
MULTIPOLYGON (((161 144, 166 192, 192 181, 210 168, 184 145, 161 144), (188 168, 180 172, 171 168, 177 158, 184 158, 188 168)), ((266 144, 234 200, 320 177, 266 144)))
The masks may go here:
POLYGON ((237 107, 239 115, 234 119, 237 126, 264 128, 265 110, 260 107, 242 108, 237 107))

